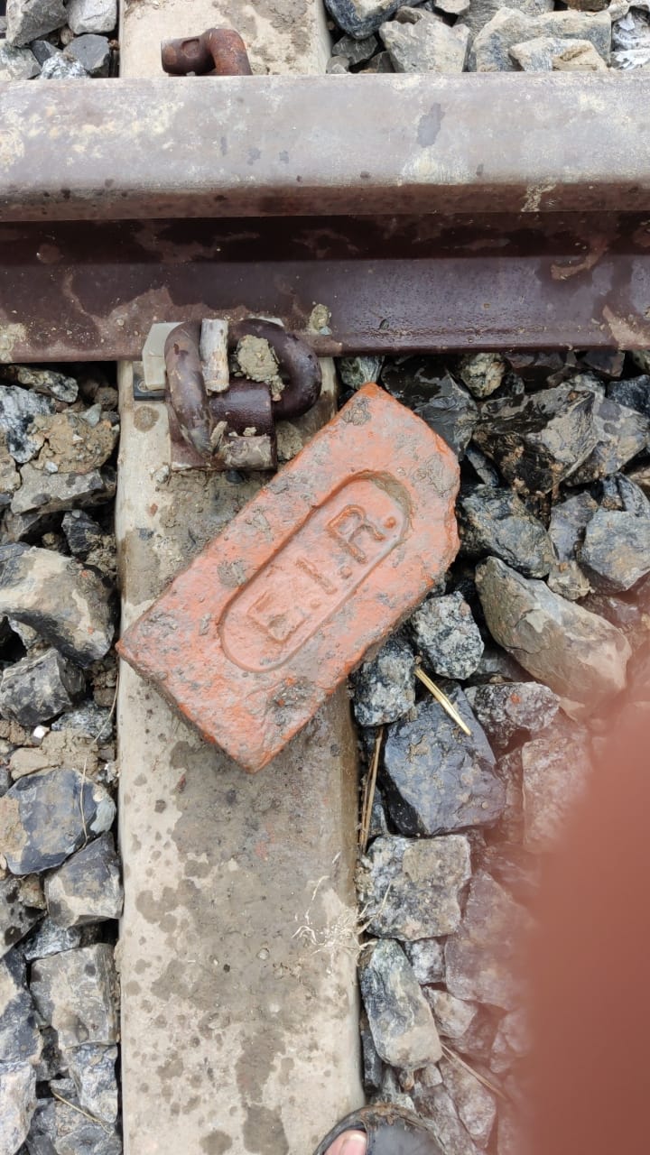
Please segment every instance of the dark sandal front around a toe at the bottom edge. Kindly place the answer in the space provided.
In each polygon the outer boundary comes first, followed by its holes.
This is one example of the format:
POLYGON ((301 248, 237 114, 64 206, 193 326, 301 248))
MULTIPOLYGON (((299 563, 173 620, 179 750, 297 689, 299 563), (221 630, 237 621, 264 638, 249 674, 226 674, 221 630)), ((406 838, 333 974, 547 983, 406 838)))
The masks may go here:
POLYGON ((429 1124, 413 1115, 413 1111, 405 1111, 392 1103, 362 1106, 347 1115, 325 1135, 313 1155, 325 1155, 330 1143, 344 1131, 365 1132, 365 1155, 443 1155, 429 1124))

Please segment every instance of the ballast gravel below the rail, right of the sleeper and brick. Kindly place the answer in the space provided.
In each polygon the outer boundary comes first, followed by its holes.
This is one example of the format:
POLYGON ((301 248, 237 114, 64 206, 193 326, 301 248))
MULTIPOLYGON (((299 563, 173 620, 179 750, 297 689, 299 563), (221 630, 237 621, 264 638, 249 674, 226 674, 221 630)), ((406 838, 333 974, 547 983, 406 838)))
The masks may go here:
POLYGON ((523 1149, 517 941, 603 707, 650 653, 649 371, 608 351, 339 362, 347 395, 378 379, 460 459, 458 558, 352 679, 368 772, 379 750, 364 1087, 429 1118, 444 1155, 523 1149))

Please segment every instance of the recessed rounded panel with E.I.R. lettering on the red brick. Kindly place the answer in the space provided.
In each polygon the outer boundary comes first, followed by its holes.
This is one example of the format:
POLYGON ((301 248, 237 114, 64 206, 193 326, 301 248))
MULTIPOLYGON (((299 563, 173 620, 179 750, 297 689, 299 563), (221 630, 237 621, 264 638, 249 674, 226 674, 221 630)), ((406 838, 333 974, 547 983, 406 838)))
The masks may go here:
POLYGON ((260 673, 283 665, 394 550, 407 523, 408 498, 393 478, 344 485, 230 603, 220 627, 229 660, 260 673))

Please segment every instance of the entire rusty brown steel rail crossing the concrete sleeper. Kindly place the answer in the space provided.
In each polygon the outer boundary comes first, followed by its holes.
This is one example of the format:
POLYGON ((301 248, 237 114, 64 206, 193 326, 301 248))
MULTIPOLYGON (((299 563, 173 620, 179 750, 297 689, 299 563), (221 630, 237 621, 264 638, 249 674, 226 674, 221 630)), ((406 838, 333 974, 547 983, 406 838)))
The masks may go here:
POLYGON ((0 85, 0 359, 251 313, 320 355, 650 345, 649 128, 642 73, 0 85))

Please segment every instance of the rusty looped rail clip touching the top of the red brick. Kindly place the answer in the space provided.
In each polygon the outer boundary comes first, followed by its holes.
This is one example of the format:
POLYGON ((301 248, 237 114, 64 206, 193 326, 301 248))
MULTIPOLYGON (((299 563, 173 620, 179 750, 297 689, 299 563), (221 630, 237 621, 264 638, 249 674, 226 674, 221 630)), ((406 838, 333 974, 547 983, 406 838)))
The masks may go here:
POLYGON ((248 320, 224 335, 228 352, 236 352, 245 337, 267 342, 273 350, 273 393, 265 380, 246 377, 208 388, 198 322, 178 325, 167 337, 170 437, 172 446, 189 449, 186 468, 275 469, 275 422, 302 416, 320 395, 320 365, 303 341, 272 321, 248 320))

